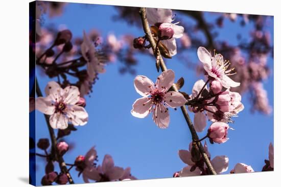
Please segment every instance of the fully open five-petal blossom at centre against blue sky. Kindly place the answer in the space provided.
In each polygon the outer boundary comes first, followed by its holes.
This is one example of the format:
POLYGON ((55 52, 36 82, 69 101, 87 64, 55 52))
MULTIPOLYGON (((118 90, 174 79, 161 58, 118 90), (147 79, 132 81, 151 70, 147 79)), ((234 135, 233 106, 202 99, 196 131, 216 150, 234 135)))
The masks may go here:
POLYGON ((134 87, 142 98, 133 103, 131 114, 137 118, 145 118, 153 111, 153 121, 159 128, 167 128, 170 115, 167 106, 176 108, 185 104, 186 99, 179 92, 168 91, 174 84, 173 70, 163 71, 155 85, 146 76, 138 75, 134 79, 134 87))

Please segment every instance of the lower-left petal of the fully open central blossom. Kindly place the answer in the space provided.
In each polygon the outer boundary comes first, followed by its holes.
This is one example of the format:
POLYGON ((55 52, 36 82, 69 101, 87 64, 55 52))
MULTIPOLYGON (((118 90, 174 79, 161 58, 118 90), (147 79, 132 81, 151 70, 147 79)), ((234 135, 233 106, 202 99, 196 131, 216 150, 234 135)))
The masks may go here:
POLYGON ((145 118, 150 113, 152 108, 152 100, 148 97, 136 99, 133 103, 131 114, 137 118, 145 118))

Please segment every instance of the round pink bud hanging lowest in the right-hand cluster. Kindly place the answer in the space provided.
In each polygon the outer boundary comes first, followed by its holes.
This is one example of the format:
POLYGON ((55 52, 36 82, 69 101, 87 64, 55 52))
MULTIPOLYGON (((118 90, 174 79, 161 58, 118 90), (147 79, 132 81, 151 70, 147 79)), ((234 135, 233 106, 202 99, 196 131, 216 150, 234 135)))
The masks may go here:
POLYGON ((227 130, 229 126, 223 122, 215 122, 208 129, 208 137, 216 143, 224 143, 228 140, 227 130))

